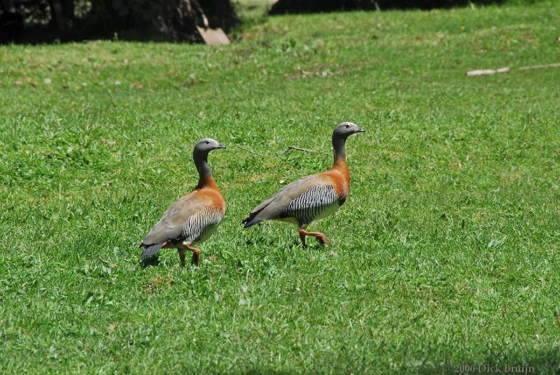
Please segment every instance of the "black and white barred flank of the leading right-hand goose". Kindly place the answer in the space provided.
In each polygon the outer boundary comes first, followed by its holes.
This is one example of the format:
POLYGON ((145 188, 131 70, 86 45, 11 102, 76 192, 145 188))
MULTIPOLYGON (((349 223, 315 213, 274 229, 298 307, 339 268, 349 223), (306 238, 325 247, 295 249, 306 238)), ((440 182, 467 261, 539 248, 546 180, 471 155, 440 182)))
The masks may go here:
POLYGON ((304 192, 288 204, 288 216, 297 218, 300 225, 324 218, 338 208, 338 194, 332 185, 319 185, 304 192))

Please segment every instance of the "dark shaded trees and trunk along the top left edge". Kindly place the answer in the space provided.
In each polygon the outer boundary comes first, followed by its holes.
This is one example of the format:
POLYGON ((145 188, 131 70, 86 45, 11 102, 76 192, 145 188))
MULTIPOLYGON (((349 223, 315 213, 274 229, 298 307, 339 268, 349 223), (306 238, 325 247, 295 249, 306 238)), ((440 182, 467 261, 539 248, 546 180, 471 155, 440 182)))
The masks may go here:
POLYGON ((238 21, 230 0, 0 0, 0 31, 6 40, 6 33, 17 31, 15 41, 34 36, 199 41, 202 12, 211 27, 227 30, 238 21), (18 17, 22 27, 14 27, 18 17))

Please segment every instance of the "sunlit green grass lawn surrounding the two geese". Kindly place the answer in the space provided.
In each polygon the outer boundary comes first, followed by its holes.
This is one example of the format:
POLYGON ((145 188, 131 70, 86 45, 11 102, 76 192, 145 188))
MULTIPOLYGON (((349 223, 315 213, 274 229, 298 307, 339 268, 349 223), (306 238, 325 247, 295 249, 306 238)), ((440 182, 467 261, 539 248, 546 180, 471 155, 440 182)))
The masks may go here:
POLYGON ((0 369, 556 374, 560 69, 465 72, 560 62, 559 24, 542 3, 269 17, 216 48, 0 47, 0 369), (330 167, 344 120, 367 132, 349 199, 310 227, 332 247, 241 229, 330 167), (207 136, 225 219, 200 267, 142 269, 207 136))

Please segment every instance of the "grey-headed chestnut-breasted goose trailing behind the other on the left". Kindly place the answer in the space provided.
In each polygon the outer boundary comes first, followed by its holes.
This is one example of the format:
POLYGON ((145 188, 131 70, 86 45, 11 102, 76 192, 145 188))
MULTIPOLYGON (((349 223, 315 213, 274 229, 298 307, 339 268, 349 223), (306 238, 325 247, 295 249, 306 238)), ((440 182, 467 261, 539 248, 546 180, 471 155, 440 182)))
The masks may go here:
POLYGON ((202 139, 195 146, 193 159, 199 180, 195 189, 173 202, 140 246, 145 250, 142 257, 158 253, 160 248, 179 250, 181 266, 185 266, 186 250, 193 252, 192 264, 198 265, 200 249, 193 247, 211 236, 223 219, 225 201, 208 165, 208 153, 225 148, 214 139, 202 139))

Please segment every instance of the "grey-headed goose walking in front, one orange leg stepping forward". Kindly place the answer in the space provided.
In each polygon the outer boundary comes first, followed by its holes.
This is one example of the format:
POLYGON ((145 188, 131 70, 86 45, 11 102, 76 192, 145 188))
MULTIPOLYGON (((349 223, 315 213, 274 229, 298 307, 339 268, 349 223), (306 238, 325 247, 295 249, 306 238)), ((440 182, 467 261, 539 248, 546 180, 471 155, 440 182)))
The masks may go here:
POLYGON ((364 132, 364 129, 351 122, 337 125, 332 132, 332 148, 335 151, 332 168, 282 187, 253 209, 248 218, 243 220, 244 227, 252 227, 265 220, 292 222, 299 227, 303 248, 305 236, 314 236, 319 242, 329 245, 330 241, 324 234, 308 232, 306 229, 314 220, 337 211, 346 201, 350 190, 350 171, 344 149, 346 139, 359 132, 364 132))

